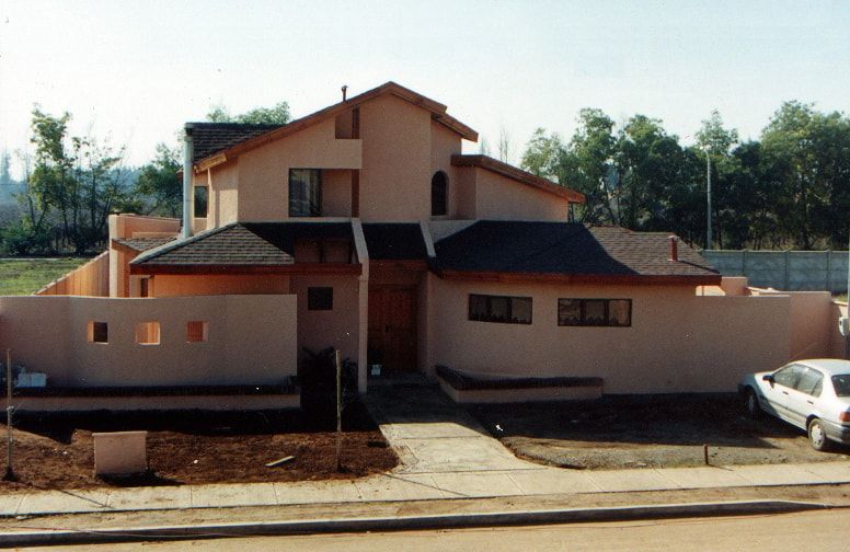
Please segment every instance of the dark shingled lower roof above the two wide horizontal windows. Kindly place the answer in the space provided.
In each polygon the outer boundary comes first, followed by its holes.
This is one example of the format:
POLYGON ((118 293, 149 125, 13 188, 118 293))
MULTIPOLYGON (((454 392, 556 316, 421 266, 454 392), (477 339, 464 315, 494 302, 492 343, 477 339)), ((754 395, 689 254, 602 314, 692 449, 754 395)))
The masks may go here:
POLYGON ((439 271, 567 276, 716 277, 681 241, 669 260, 668 233, 568 222, 479 221, 435 244, 439 271))

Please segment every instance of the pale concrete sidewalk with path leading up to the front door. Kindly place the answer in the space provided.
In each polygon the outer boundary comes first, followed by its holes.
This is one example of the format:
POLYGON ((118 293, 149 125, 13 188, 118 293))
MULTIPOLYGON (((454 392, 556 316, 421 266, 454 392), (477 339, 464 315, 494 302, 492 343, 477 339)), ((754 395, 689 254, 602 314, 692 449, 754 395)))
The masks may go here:
POLYGON ((406 394, 400 391, 403 388, 390 392, 376 387, 367 398, 400 453, 402 464, 392 472, 342 481, 20 492, 0 495, 0 515, 850 483, 847 461, 610 471, 547 468, 516 459, 439 393, 420 393, 414 387, 406 394))

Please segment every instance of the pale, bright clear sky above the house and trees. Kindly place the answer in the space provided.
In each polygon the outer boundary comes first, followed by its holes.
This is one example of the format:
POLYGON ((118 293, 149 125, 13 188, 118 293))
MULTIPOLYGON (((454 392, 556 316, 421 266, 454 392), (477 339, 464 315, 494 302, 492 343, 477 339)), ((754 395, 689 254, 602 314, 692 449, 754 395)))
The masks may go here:
POLYGON ((142 164, 211 105, 300 117, 389 80, 492 151, 504 130, 515 163, 582 107, 684 143, 716 108, 757 138, 783 101, 850 112, 850 2, 0 1, 0 150, 31 149, 39 104, 142 164))

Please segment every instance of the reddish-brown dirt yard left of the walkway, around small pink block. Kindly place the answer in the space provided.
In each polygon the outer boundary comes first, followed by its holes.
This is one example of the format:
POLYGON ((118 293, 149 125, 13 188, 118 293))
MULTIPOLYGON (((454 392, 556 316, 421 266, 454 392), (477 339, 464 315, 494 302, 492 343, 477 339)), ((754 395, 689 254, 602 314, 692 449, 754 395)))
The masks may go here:
MULTIPOLYGON (((300 412, 134 413, 19 415, 14 472, 19 482, 0 482, 0 493, 27 488, 176 485, 358 478, 398 463, 366 409, 346 407, 343 471, 336 470, 336 434, 314 427, 300 412), (130 479, 94 476, 93 432, 148 430, 150 472, 130 479), (286 456, 277 468, 264 464, 286 456)), ((0 427, 5 445, 5 426, 0 427)), ((3 447, 4 448, 4 447, 3 447)), ((0 463, 5 465, 4 451, 0 463)))

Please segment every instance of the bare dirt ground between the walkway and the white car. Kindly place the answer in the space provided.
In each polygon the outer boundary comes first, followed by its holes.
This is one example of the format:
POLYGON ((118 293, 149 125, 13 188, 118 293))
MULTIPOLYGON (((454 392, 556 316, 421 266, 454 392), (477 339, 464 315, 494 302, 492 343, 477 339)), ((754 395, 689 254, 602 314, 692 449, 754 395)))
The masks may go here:
POLYGON ((737 395, 604 399, 589 403, 475 405, 470 412, 520 458, 563 468, 618 469, 817 462, 805 434, 769 416, 750 419, 737 395))

